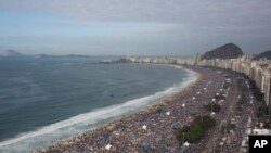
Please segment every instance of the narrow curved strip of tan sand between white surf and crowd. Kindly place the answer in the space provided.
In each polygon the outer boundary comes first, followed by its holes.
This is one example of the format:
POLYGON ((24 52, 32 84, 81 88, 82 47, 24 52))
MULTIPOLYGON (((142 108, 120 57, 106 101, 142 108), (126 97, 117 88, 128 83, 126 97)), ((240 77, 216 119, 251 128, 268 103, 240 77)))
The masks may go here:
POLYGON ((196 82, 198 82, 202 79, 202 75, 199 73, 192 71, 188 67, 183 67, 183 66, 179 66, 179 65, 171 65, 171 64, 166 64, 166 65, 173 66, 176 68, 181 68, 181 69, 188 72, 189 75, 193 75, 193 77, 195 77, 195 79, 192 80, 191 82, 189 82, 188 85, 184 85, 184 87, 182 87, 179 91, 164 95, 163 98, 159 98, 158 100, 156 100, 154 103, 145 105, 143 109, 138 109, 137 111, 133 111, 131 113, 127 113, 127 114, 114 117, 113 120, 103 123, 103 124, 96 126, 95 128, 92 128, 92 129, 90 129, 90 130, 88 130, 79 136, 75 136, 75 137, 72 137, 69 139, 55 142, 51 145, 41 148, 35 152, 50 152, 50 150, 52 150, 52 148, 53 149, 60 148, 60 146, 65 148, 65 145, 70 145, 73 143, 76 144, 78 142, 78 140, 82 139, 86 135, 98 135, 101 132, 101 130, 112 129, 118 123, 130 122, 133 118, 137 118, 138 116, 141 116, 142 114, 149 112, 150 110, 154 110, 157 106, 165 105, 165 104, 167 104, 167 102, 172 101, 173 99, 177 99, 180 94, 183 94, 183 92, 188 91, 190 88, 192 88, 196 82))

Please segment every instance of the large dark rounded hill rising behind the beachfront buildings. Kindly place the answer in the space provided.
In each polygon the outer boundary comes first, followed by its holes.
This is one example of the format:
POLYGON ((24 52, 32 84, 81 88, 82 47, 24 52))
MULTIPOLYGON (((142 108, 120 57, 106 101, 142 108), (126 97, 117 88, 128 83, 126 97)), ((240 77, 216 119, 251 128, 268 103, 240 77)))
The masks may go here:
POLYGON ((227 43, 224 46, 218 47, 211 51, 207 51, 203 59, 236 59, 240 55, 244 55, 241 48, 234 43, 227 43))

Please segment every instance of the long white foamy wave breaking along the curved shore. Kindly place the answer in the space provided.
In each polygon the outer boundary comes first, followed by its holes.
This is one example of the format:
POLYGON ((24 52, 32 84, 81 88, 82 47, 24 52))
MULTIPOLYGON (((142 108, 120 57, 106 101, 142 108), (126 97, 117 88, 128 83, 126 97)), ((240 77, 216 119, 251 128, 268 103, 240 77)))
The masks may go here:
MULTIPOLYGON (((181 67, 177 67, 181 68, 181 67)), ((31 152, 38 148, 49 145, 53 141, 60 141, 72 136, 95 128, 99 123, 107 122, 114 117, 134 112, 145 105, 153 104, 157 100, 178 92, 183 87, 196 80, 196 76, 189 72, 188 77, 180 84, 168 88, 165 91, 156 92, 153 95, 143 97, 127 101, 122 104, 98 109, 89 113, 79 114, 66 120, 62 120, 36 131, 22 133, 14 139, 0 142, 0 152, 31 152)))

